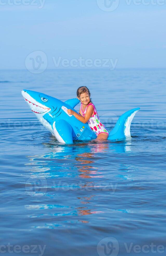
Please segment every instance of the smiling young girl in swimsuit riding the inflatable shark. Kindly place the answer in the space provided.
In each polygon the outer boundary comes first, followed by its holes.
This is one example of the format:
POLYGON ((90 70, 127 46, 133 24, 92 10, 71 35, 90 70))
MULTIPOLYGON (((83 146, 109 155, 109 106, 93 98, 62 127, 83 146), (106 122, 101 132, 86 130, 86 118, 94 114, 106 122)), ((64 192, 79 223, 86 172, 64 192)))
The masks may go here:
POLYGON ((77 98, 81 101, 81 107, 79 114, 75 111, 68 109, 68 114, 74 115, 82 123, 87 123, 97 135, 97 139, 107 139, 108 131, 105 126, 101 123, 96 108, 91 102, 90 91, 86 86, 81 86, 77 89, 77 98))

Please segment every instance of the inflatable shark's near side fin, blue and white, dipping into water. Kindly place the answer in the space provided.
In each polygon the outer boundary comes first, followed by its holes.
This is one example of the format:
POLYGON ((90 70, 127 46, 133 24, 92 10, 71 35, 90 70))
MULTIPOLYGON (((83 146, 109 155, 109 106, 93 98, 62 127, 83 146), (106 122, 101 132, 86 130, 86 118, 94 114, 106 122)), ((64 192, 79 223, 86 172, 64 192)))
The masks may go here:
POLYGON ((71 125, 63 120, 59 119, 53 124, 54 135, 57 140, 61 143, 72 144, 72 127, 71 125))

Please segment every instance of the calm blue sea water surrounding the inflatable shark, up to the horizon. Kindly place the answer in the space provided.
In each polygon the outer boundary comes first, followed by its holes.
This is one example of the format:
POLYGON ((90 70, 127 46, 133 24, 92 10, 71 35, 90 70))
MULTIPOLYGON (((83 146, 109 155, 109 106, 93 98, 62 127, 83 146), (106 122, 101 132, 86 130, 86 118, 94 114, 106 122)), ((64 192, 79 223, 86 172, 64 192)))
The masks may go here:
POLYGON ((3 255, 165 255, 165 81, 165 69, 0 71, 3 255), (131 138, 63 145, 21 95, 65 101, 81 85, 109 131, 141 107, 131 138))

